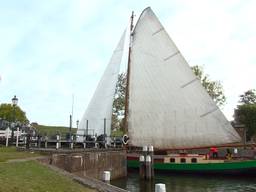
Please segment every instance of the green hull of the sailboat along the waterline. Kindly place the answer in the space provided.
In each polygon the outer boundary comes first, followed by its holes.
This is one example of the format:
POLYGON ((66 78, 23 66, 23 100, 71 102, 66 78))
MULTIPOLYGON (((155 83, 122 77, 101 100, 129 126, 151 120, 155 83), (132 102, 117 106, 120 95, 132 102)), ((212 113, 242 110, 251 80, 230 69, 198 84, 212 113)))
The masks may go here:
MULTIPOLYGON (((128 168, 139 168, 139 161, 127 160, 128 168)), ((256 160, 224 163, 154 163, 155 170, 171 172, 213 172, 256 174, 256 160)))

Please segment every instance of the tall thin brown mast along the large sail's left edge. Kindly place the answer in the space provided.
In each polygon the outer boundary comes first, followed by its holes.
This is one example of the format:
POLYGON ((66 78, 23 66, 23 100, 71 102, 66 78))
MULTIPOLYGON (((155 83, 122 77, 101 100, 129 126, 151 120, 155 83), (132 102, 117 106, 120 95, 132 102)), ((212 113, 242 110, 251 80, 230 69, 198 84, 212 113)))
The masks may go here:
POLYGON ((132 30, 133 30, 134 12, 132 11, 130 23, 130 36, 129 36, 129 51, 128 51, 128 64, 126 74, 126 91, 125 91, 125 112, 124 112, 124 133, 128 133, 128 106, 129 106, 129 84, 130 84, 130 62, 131 62, 131 48, 132 48, 132 30))

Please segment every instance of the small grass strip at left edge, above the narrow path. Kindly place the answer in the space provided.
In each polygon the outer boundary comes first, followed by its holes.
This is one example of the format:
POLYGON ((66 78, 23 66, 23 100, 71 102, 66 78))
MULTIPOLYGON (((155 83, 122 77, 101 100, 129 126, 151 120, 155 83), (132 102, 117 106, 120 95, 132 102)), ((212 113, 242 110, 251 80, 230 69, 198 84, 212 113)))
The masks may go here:
POLYGON ((17 151, 15 147, 0 147, 0 162, 5 162, 11 159, 24 159, 36 156, 40 156, 40 154, 31 153, 28 151, 17 151))

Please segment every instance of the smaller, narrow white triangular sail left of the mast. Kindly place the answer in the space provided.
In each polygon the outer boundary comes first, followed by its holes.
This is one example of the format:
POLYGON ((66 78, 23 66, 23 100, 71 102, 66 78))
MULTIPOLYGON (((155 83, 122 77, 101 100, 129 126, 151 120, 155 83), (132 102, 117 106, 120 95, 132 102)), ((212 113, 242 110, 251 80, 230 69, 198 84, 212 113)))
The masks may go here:
POLYGON ((115 94, 118 73, 123 55, 125 32, 123 33, 111 60, 97 86, 97 89, 79 123, 78 135, 86 134, 88 121, 88 134, 101 135, 105 131, 107 136, 111 133, 112 105, 115 94))

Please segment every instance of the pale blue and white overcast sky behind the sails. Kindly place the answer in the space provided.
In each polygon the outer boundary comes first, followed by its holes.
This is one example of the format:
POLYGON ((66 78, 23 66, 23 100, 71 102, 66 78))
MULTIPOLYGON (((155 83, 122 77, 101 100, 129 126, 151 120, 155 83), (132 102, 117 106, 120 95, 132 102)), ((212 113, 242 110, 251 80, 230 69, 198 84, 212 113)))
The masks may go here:
POLYGON ((0 103, 17 95, 31 122, 68 126, 74 95, 81 119, 131 11, 147 6, 189 65, 221 81, 231 120, 256 88, 253 0, 0 0, 0 103))

